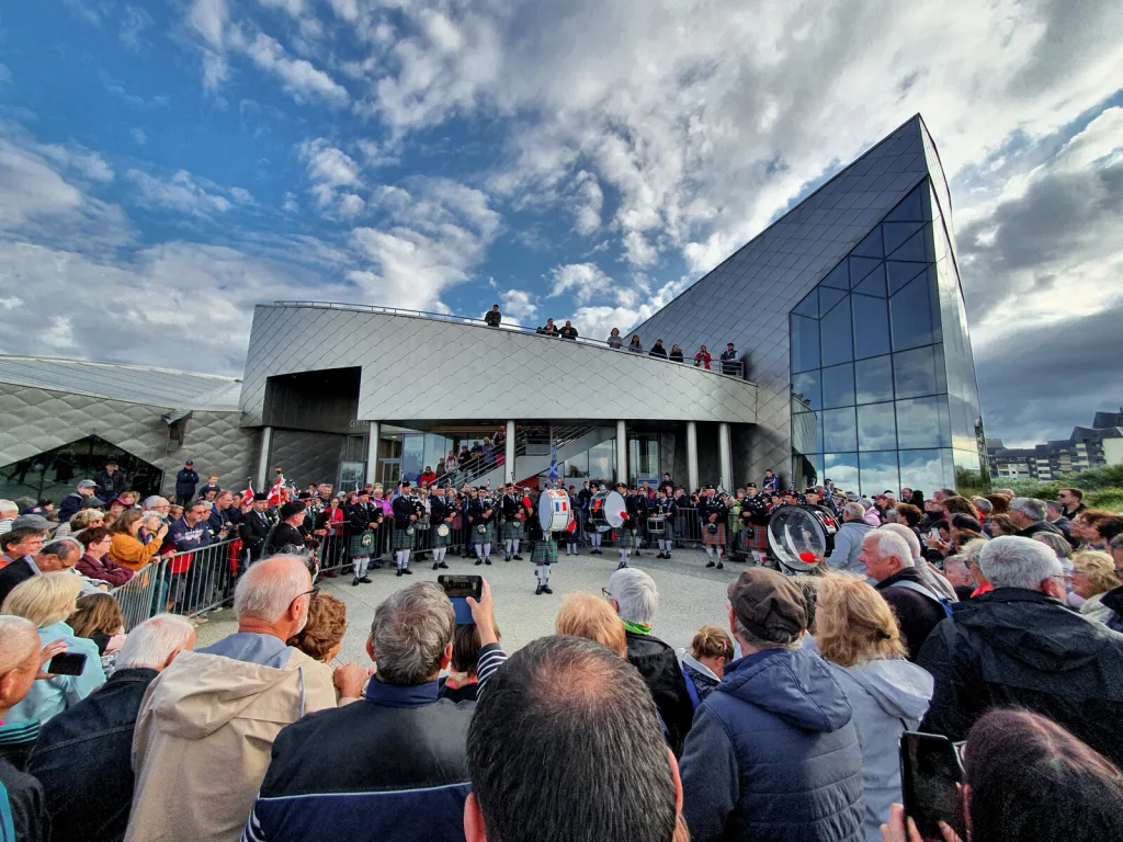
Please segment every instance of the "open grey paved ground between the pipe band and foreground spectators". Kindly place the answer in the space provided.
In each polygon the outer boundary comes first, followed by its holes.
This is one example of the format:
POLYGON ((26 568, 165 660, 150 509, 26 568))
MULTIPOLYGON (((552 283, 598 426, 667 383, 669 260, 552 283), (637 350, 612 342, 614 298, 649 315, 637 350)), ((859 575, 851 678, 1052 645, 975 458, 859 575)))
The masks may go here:
MULTIPOLYGON (((655 620, 655 633, 675 648, 690 643, 694 632, 703 623, 728 625, 725 611, 725 586, 734 579, 745 565, 725 564, 724 570, 706 568, 706 556, 702 550, 678 550, 669 561, 657 559, 655 552, 645 551, 640 558, 632 557, 632 567, 650 574, 659 588, 659 611, 655 620)), ((503 637, 503 647, 513 651, 524 643, 554 631, 554 617, 567 593, 588 591, 601 593, 608 585, 609 576, 617 568, 619 556, 605 549, 603 556, 590 556, 583 549, 579 556, 559 557, 550 574, 554 595, 535 596, 535 568, 530 564, 529 549, 523 551, 524 561, 504 562, 503 557, 492 558, 491 567, 476 567, 468 559, 448 557, 449 570, 439 573, 482 574, 492 586, 495 598, 495 615, 503 637)), ((364 651, 374 610, 399 587, 413 582, 436 582, 438 571, 431 561, 410 565, 414 575, 394 575, 392 567, 371 570, 374 580, 369 585, 351 587, 351 577, 340 575, 335 579, 321 579, 320 585, 347 604, 349 628, 344 640, 339 660, 367 662, 364 651)), ((207 622, 199 628, 197 646, 207 646, 235 631, 234 613, 229 610, 207 615, 207 622)))

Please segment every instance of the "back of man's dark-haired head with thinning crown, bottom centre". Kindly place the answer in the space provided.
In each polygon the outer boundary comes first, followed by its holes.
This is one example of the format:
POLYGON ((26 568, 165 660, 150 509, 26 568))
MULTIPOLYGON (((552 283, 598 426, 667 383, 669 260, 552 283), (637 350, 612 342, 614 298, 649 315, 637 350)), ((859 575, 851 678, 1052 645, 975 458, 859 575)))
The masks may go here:
POLYGON ((467 766, 472 794, 456 836, 467 842, 690 835, 640 677, 588 640, 540 638, 512 656, 472 717, 467 766))

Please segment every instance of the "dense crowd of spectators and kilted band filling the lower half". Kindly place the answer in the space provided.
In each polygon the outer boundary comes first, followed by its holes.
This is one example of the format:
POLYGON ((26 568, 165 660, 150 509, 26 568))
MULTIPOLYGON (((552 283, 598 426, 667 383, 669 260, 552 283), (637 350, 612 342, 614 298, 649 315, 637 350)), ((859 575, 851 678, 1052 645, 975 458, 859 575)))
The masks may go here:
MULTIPOLYGON (((576 542, 513 485, 320 485, 275 505, 219 477, 175 502, 103 479, 76 484, 65 521, 0 501, 8 838, 920 842, 901 807, 914 731, 962 743, 943 840, 952 824, 962 842, 1123 838, 1123 519, 1079 489, 620 484, 617 569, 562 600, 554 634, 508 657, 486 580, 471 624, 437 583, 408 582, 364 630, 366 662, 341 665, 346 605, 317 583, 344 562, 369 582, 380 530, 398 576, 421 524, 436 541, 459 516, 475 566, 529 540, 538 594, 576 542), (802 570, 754 543, 791 505, 840 524, 802 570), (694 537, 707 565, 745 568, 676 651, 630 557, 694 537), (126 633, 117 588, 235 541, 235 633, 195 649, 165 611, 126 633)), ((565 492, 586 513, 602 493, 565 492)), ((449 546, 424 544, 436 569, 449 546)))

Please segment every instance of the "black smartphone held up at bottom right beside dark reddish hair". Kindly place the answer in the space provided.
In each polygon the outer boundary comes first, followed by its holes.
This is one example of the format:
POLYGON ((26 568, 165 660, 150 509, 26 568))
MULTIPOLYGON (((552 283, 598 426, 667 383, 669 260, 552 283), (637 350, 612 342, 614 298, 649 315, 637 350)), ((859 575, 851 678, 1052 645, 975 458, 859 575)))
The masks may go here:
POLYGON ((925 840, 942 840, 940 822, 967 839, 959 785, 964 768, 956 744, 941 734, 906 731, 901 735, 901 789, 905 815, 925 840))

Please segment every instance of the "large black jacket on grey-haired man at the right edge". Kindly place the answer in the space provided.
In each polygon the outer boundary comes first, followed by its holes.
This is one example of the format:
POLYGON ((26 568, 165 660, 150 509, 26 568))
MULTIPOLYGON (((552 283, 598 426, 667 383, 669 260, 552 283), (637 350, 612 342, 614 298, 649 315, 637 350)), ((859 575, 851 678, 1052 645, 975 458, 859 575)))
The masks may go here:
POLYGON ((935 678, 921 731, 964 740, 990 708, 1021 707, 1123 763, 1123 634, 1023 588, 997 588, 952 612, 920 655, 935 678))

